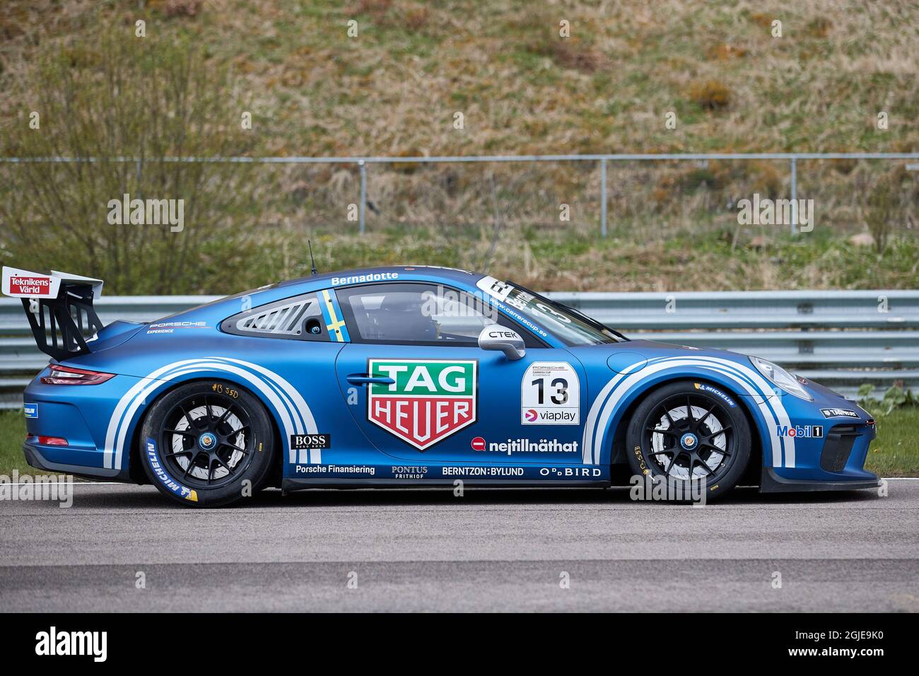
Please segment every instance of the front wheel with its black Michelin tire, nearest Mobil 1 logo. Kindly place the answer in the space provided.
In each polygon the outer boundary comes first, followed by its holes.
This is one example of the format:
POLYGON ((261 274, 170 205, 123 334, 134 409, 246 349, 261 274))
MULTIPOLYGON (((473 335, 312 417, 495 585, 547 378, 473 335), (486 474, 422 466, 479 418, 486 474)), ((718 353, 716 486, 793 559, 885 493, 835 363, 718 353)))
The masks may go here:
POLYGON ((665 481, 670 500, 719 498, 750 460, 750 425, 735 397, 694 381, 664 384, 635 409, 626 431, 633 475, 665 481))

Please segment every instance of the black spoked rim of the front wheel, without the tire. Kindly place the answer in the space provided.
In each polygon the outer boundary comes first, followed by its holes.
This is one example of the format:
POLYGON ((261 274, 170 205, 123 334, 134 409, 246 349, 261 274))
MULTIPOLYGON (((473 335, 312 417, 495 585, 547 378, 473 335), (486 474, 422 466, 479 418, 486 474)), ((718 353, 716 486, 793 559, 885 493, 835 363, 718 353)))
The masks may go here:
POLYGON ((727 410, 703 393, 668 396, 644 420, 642 449, 668 481, 717 482, 733 464, 735 446, 727 410))

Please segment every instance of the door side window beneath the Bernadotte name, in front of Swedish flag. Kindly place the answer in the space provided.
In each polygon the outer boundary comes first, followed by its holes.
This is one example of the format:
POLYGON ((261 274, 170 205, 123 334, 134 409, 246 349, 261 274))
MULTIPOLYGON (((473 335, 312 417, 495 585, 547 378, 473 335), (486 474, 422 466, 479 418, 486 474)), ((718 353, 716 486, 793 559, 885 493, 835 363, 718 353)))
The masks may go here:
POLYGON ((387 283, 336 290, 351 338, 362 342, 475 345, 483 327, 511 327, 539 343, 491 304, 437 284, 387 283))

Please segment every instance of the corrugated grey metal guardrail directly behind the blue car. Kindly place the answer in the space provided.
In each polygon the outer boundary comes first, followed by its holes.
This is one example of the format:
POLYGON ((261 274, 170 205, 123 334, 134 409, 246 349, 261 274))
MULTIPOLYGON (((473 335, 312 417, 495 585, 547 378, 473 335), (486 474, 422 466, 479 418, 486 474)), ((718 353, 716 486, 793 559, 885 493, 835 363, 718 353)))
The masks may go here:
MULTIPOLYGON (((731 349, 776 361, 851 396, 864 383, 919 390, 919 291, 547 293, 634 338, 731 349)), ((103 324, 152 321, 220 296, 109 296, 103 324)), ((22 304, 0 299, 0 408, 48 363, 22 304)))

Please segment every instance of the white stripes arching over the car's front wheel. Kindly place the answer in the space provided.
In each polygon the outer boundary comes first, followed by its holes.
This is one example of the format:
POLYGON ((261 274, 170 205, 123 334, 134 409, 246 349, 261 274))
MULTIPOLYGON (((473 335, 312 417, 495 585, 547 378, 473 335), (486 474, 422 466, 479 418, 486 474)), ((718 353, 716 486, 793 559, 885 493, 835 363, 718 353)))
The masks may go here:
MULTIPOLYGON (((629 393, 634 384, 639 383, 645 377, 653 373, 683 366, 697 366, 702 369, 718 372, 730 378, 733 382, 740 385, 749 395, 754 396, 754 402, 757 407, 759 407, 763 417, 766 418, 767 423, 771 419, 777 421, 778 424, 781 425, 790 425, 789 415, 782 405, 781 398, 772 395, 772 388, 766 384, 765 379, 759 373, 754 372, 753 369, 744 367, 735 361, 707 356, 664 357, 650 362, 641 360, 630 365, 624 372, 618 373, 611 378, 594 400, 584 428, 584 464, 599 464, 603 437, 606 435, 609 419, 614 415, 622 398, 629 393), (644 368, 639 368, 642 364, 646 365, 644 368), (756 387, 754 388, 751 383, 756 385, 756 387), (770 403, 775 406, 775 412, 773 412, 772 408, 769 406, 770 403)), ((782 466, 783 440, 777 437, 771 437, 771 441, 772 464, 773 466, 780 467, 782 466)), ((786 441, 784 466, 794 467, 794 440, 787 439, 784 441, 786 441)))

